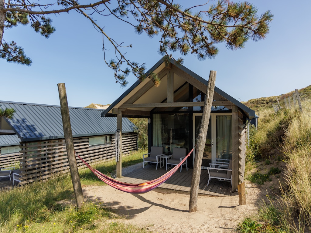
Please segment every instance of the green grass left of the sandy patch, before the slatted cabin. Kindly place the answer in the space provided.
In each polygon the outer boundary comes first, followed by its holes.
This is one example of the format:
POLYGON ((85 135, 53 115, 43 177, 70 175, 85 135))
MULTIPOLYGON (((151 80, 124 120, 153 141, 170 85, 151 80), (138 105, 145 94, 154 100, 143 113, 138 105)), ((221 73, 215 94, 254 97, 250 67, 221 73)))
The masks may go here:
MULTIPOLYGON (((123 158, 123 166, 142 159, 143 151, 123 158)), ((114 172, 112 161, 95 167, 106 174, 114 172)), ((79 171, 82 185, 98 185, 88 169, 79 171)), ((35 182, 12 190, 0 191, 0 232, 146 232, 129 224, 119 223, 112 209, 100 202, 85 202, 81 209, 70 204, 74 199, 69 175, 56 176, 46 182, 35 182)))

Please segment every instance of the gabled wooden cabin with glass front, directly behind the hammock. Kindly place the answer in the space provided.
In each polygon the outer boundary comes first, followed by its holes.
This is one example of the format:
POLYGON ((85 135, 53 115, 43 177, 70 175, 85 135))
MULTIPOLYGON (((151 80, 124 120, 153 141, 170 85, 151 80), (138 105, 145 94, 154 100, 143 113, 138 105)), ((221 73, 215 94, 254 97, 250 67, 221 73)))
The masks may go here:
MULTIPOLYGON (((147 72, 151 73, 160 78, 159 87, 149 78, 138 80, 102 117, 117 117, 117 129, 123 125, 122 117, 148 118, 149 151, 151 146, 162 146, 166 154, 175 147, 189 152, 196 144, 208 81, 164 58, 147 72)), ((215 87, 201 168, 207 169, 216 158, 232 159, 233 190, 244 180, 247 126, 254 117, 253 110, 215 87)), ((194 154, 188 159, 188 167, 193 167, 194 154)), ((119 178, 121 163, 117 164, 119 178)))

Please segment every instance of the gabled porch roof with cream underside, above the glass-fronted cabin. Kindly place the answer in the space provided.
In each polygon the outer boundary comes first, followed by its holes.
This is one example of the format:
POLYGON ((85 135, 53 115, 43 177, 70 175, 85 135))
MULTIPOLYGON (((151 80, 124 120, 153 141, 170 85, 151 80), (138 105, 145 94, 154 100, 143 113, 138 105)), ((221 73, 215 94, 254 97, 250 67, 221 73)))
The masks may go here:
MULTIPOLYGON (((148 117, 148 113, 154 109, 156 106, 152 106, 151 103, 163 103, 165 98, 167 98, 167 84, 168 84, 168 72, 174 73, 174 82, 173 82, 173 91, 178 90, 186 82, 193 85, 197 89, 201 90, 203 93, 206 93, 208 81, 202 78, 201 76, 195 74, 193 71, 189 70, 185 66, 178 65, 176 62, 171 59, 168 63, 165 62, 164 57, 160 59, 146 74, 151 74, 155 72, 158 74, 158 77, 161 79, 159 87, 155 87, 153 82, 146 78, 143 81, 137 80, 127 91, 125 91, 114 103, 112 103, 102 114, 102 117, 115 116, 116 113, 113 112, 113 108, 122 108, 127 104, 149 104, 145 108, 132 108, 124 112, 124 116, 131 116, 130 113, 133 113, 133 116, 148 117), (145 115, 144 115, 145 114, 145 115)), ((209 70, 207 70, 208 78, 209 70)), ((236 105, 244 113, 244 115, 252 119, 255 116, 255 111, 245 106, 235 98, 231 97, 229 94, 215 87, 214 100, 217 101, 229 101, 230 105, 236 105)), ((228 102, 227 102, 228 103, 228 102)), ((128 106, 128 105, 127 105, 128 106)), ((137 106, 137 105, 136 105, 137 106)))

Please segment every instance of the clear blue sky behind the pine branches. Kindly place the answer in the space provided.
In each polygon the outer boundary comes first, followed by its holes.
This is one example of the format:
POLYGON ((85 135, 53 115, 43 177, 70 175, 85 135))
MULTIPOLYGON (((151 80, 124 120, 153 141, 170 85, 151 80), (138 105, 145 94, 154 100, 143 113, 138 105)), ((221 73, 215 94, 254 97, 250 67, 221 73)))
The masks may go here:
MULTIPOLYGON (((178 1, 174 1, 178 2, 178 1)), ((188 1, 179 1, 189 7, 188 1)), ((196 4, 205 1, 191 1, 196 4)), ((267 38, 248 41, 245 48, 227 50, 219 45, 213 60, 198 61, 192 54, 184 57, 184 66, 208 80, 210 70, 217 71, 216 86, 237 100, 285 94, 311 85, 309 9, 311 1, 249 1, 260 15, 271 10, 274 20, 267 38)), ((65 83, 69 106, 113 103, 137 79, 128 78, 127 88, 115 83, 113 71, 103 62, 102 36, 89 21, 75 12, 52 15, 56 31, 49 39, 30 28, 18 26, 4 31, 4 39, 14 40, 32 59, 31 66, 0 60, 0 100, 59 105, 58 83, 65 83)), ((128 56, 147 70, 162 57, 158 38, 137 35, 128 25, 102 17, 105 31, 119 42, 132 44, 128 56)), ((106 42, 107 43, 107 42, 106 42)))

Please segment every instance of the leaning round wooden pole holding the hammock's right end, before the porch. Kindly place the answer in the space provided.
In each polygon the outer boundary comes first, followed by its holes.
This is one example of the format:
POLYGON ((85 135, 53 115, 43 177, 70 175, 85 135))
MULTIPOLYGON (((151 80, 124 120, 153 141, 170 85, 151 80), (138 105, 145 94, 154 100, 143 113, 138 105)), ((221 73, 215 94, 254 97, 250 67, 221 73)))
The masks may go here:
POLYGON ((195 150, 193 174, 192 174, 191 189, 190 189, 189 212, 197 211, 197 197, 199 194, 202 158, 203 158, 203 152, 205 148, 208 122, 209 122, 210 115, 211 115, 211 107, 212 107, 214 90, 215 90, 215 80, 216 80, 216 71, 210 71, 210 76, 208 79, 208 85, 207 85, 207 91, 206 91, 206 97, 205 97, 204 107, 203 107, 201 126, 199 130, 199 135, 197 138, 198 144, 195 150))

